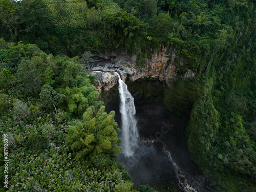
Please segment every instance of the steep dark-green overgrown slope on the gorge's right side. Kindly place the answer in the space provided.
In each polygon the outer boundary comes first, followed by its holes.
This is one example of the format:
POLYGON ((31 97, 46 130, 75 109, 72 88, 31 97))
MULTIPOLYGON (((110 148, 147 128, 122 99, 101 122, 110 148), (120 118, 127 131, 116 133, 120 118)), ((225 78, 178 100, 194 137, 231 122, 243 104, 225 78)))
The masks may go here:
POLYGON ((223 13, 229 17, 223 18, 227 31, 219 30, 212 40, 205 73, 183 81, 187 87, 178 82, 165 101, 178 112, 193 104, 187 144, 202 173, 210 170, 209 181, 224 191, 255 190, 255 23, 250 23, 255 9, 249 2, 233 3, 223 13), (240 12, 234 13, 235 8, 240 12))

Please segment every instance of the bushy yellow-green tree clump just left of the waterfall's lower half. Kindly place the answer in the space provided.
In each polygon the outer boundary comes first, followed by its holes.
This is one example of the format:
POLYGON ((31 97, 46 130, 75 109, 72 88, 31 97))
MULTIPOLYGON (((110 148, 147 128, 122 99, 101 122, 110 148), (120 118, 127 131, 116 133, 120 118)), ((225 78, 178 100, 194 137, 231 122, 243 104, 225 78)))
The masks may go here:
POLYGON ((120 153, 121 147, 117 146, 121 139, 117 137, 119 128, 114 120, 115 112, 104 112, 101 106, 96 116, 92 108, 83 114, 82 121, 70 128, 66 137, 66 144, 76 152, 76 159, 92 157, 94 152, 99 154, 120 153))

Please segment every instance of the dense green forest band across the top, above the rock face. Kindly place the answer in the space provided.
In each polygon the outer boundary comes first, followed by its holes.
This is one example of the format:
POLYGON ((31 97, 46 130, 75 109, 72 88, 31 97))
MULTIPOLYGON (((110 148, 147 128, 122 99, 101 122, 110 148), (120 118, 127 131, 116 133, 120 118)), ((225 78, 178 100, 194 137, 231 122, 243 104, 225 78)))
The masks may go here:
POLYGON ((255 29, 251 1, 115 1, 1 0, 1 35, 72 56, 122 48, 134 54, 164 42, 188 58, 183 68, 201 72, 255 29))

